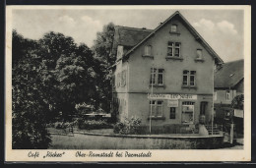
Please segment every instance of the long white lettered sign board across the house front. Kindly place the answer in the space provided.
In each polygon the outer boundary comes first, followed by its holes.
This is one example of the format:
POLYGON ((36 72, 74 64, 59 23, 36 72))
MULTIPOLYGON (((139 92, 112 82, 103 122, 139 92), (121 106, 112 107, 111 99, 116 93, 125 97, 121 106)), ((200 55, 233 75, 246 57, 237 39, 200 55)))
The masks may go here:
POLYGON ((197 95, 195 94, 150 94, 148 93, 149 99, 189 99, 189 100, 196 100, 197 95))

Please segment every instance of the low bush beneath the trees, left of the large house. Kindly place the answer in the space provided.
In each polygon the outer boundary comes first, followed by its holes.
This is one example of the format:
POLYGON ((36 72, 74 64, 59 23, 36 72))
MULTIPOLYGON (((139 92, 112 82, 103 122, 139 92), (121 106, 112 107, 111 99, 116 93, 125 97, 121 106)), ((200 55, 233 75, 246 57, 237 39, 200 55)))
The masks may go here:
POLYGON ((112 126, 103 120, 79 120, 78 128, 83 130, 111 129, 112 126))

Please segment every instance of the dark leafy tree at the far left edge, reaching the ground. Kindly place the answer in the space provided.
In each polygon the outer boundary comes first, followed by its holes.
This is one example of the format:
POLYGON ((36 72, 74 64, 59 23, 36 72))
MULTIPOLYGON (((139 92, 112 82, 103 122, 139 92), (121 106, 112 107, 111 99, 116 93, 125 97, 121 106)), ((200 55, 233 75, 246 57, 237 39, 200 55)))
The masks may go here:
POLYGON ((36 44, 13 32, 13 47, 19 44, 14 53, 19 59, 12 72, 13 148, 47 148, 51 140, 46 130, 44 113, 48 106, 38 74, 40 63, 35 48, 28 47, 27 41, 36 44))

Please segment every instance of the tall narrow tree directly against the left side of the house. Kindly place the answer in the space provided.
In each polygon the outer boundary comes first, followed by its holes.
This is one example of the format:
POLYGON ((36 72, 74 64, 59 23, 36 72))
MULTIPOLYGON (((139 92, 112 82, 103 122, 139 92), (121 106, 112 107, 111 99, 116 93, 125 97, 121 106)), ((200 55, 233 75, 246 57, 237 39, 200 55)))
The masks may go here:
POLYGON ((96 40, 93 46, 96 58, 96 100, 100 102, 100 107, 110 111, 111 103, 111 76, 109 67, 114 64, 116 57, 111 55, 112 43, 114 39, 114 25, 109 23, 103 27, 102 32, 96 33, 96 40))

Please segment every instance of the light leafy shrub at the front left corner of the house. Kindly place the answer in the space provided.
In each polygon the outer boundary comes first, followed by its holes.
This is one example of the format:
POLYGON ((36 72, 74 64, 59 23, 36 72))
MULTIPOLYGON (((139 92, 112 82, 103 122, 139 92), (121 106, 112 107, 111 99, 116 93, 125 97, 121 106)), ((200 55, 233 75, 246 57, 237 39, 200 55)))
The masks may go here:
POLYGON ((140 126, 141 126, 142 120, 137 117, 131 117, 130 119, 125 118, 124 122, 118 122, 114 126, 114 133, 115 134, 139 134, 140 132, 140 126))

